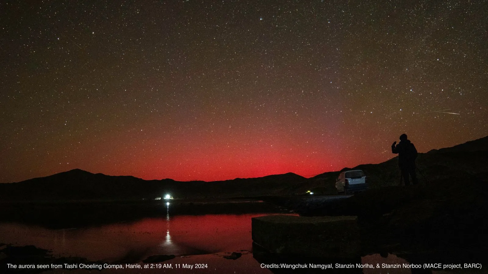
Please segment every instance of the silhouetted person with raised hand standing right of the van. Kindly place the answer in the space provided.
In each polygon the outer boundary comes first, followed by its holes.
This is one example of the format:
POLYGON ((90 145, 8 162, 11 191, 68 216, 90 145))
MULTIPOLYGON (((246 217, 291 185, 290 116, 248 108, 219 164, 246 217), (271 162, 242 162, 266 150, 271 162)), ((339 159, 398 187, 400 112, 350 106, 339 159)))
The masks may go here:
POLYGON ((398 145, 396 141, 391 145, 391 152, 398 154, 398 165, 402 171, 403 181, 405 185, 410 184, 408 176, 412 177, 414 185, 417 184, 417 176, 415 175, 415 159, 417 158, 417 149, 410 140, 407 139, 407 134, 400 136, 400 142, 398 145))

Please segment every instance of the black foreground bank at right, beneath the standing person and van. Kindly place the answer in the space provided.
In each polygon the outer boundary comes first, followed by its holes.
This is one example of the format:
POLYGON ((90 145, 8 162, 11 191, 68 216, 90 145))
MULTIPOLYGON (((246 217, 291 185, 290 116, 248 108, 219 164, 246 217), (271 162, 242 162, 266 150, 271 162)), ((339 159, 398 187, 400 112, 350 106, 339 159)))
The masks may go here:
MULTIPOLYGON (((486 271, 487 197, 488 182, 478 174, 415 186, 373 189, 345 199, 324 196, 268 200, 302 216, 358 216, 362 255, 397 254, 418 264, 477 262, 486 271)), ((262 260, 266 258, 269 259, 264 254, 262 260)), ((306 261, 299 256, 295 259, 306 261)), ((468 273, 467 270, 454 272, 468 273)))

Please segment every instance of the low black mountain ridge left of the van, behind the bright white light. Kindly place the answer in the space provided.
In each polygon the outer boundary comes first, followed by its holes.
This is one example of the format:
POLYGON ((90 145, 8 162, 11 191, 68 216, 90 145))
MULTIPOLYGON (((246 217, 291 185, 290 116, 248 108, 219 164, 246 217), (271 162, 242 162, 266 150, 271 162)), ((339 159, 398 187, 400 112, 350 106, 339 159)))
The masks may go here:
POLYGON ((305 177, 294 173, 224 181, 144 180, 73 169, 46 177, 0 184, 0 199, 24 201, 154 199, 283 195, 283 189, 305 177))

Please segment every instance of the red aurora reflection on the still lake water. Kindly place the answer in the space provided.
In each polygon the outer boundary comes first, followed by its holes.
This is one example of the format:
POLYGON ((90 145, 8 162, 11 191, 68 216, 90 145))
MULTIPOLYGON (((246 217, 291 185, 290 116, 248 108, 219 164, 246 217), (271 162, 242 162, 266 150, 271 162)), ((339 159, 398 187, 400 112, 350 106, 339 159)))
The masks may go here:
POLYGON ((83 229, 0 224, 0 242, 35 245, 54 255, 90 260, 141 260, 153 254, 251 250, 251 218, 268 214, 177 215, 83 229))

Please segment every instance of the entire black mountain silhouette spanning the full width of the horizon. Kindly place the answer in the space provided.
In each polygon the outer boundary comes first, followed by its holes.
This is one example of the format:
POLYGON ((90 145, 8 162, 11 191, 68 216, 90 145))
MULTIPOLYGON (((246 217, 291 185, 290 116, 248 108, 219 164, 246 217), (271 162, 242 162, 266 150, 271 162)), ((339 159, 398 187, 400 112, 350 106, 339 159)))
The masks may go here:
MULTIPOLYGON (((442 181, 447 178, 473 178, 488 174, 488 137, 450 148, 419 153, 419 179, 442 181)), ((344 168, 341 171, 348 170, 344 168)), ((363 164, 370 188, 398 185, 398 159, 379 164, 363 164)), ((326 172, 311 178, 294 173, 224 181, 143 180, 134 176, 108 176, 73 169, 46 177, 0 184, 1 201, 53 200, 128 200, 154 199, 169 193, 175 198, 283 196, 305 193, 334 194, 335 179, 341 171, 326 172)))

